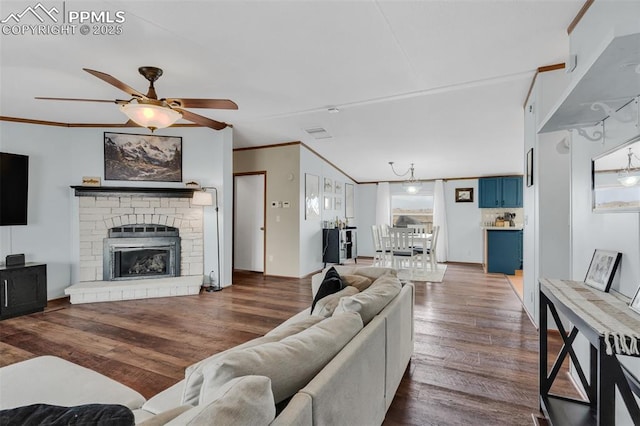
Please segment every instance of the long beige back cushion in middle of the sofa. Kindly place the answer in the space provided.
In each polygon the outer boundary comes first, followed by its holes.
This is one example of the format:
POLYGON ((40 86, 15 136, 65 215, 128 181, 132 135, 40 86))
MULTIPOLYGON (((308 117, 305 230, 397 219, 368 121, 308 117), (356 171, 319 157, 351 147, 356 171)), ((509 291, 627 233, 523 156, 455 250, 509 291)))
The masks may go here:
POLYGON ((235 377, 248 374, 271 379, 279 403, 295 394, 362 329, 359 315, 347 312, 286 337, 279 342, 234 351, 204 366, 200 401, 235 377))

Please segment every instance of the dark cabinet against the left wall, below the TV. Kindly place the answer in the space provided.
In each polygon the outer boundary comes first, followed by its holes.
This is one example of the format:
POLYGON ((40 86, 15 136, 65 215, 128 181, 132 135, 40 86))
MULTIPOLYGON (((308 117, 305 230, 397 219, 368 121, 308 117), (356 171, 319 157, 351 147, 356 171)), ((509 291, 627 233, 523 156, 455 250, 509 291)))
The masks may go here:
POLYGON ((0 268, 0 320, 44 310, 47 265, 25 263, 0 268))

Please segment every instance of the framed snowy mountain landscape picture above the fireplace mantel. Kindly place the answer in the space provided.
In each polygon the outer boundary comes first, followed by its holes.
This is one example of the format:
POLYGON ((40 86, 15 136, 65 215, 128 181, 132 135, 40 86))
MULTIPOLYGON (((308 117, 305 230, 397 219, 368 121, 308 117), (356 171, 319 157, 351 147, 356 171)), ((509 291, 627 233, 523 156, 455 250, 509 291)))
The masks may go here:
POLYGON ((104 179, 182 182, 182 137, 104 132, 104 179))

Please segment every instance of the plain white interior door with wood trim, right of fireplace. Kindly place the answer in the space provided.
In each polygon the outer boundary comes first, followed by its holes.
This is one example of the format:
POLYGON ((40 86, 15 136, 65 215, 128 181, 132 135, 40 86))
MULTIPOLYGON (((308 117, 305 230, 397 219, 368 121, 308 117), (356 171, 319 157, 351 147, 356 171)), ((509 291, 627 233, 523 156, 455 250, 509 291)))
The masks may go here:
POLYGON ((264 272, 265 175, 236 175, 233 208, 233 267, 264 272))

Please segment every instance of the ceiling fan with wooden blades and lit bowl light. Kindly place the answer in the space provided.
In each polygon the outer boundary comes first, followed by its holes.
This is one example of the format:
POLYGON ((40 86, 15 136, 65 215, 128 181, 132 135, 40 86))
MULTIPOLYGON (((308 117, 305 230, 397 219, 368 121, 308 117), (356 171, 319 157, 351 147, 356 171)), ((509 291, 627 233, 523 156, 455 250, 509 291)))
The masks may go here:
POLYGON ((152 132, 171 126, 180 118, 193 123, 221 130, 227 127, 227 123, 212 120, 199 114, 187 111, 184 108, 212 108, 212 109, 238 109, 238 105, 228 99, 199 99, 199 98, 160 98, 156 94, 153 83, 160 78, 162 70, 157 67, 140 67, 138 72, 149 81, 147 94, 138 92, 129 87, 117 78, 101 71, 83 68, 89 74, 98 77, 112 86, 117 87, 131 96, 129 100, 115 99, 79 99, 79 98, 47 98, 36 97, 36 99, 56 100, 56 101, 80 101, 80 102, 108 102, 120 105, 120 110, 126 114, 130 121, 147 127, 152 132))

